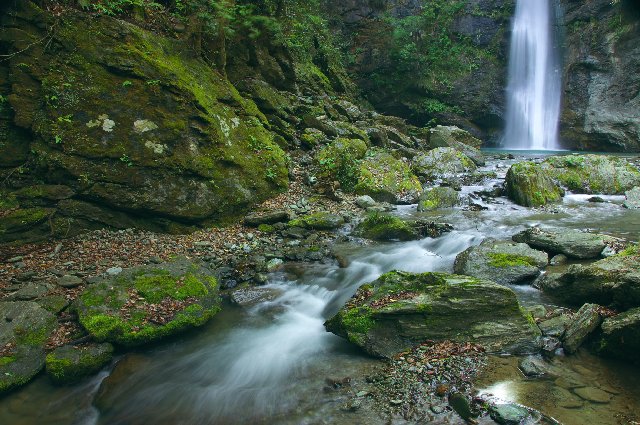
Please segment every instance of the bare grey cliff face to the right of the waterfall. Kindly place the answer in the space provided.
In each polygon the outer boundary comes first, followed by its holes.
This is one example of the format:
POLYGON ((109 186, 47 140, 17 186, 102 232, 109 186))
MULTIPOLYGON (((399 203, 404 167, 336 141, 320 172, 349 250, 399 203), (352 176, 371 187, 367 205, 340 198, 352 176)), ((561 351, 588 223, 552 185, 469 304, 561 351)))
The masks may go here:
POLYGON ((640 150, 640 3, 562 0, 568 148, 640 150))

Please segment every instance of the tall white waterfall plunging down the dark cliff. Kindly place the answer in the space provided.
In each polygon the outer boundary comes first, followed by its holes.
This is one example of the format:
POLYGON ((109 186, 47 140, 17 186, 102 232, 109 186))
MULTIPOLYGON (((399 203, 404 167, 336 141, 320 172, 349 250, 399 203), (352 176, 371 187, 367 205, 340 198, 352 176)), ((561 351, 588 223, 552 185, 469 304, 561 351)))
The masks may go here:
POLYGON ((560 65, 553 0, 518 0, 507 86, 506 149, 558 150, 560 65))

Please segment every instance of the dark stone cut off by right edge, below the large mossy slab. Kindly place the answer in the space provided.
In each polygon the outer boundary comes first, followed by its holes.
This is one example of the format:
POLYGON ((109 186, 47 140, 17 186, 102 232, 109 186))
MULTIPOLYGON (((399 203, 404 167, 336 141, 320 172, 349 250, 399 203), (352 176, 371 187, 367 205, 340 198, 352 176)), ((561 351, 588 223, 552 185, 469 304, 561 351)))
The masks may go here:
POLYGON ((640 363, 640 308, 604 319, 598 352, 640 363))

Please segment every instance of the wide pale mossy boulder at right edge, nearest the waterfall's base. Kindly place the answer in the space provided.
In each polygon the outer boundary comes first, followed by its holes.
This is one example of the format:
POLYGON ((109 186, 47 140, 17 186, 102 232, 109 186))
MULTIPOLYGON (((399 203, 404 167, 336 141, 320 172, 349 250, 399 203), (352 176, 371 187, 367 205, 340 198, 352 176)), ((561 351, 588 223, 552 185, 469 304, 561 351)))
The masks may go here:
POLYGON ((552 156, 541 168, 577 193, 622 195, 640 185, 640 171, 625 158, 605 155, 552 156))

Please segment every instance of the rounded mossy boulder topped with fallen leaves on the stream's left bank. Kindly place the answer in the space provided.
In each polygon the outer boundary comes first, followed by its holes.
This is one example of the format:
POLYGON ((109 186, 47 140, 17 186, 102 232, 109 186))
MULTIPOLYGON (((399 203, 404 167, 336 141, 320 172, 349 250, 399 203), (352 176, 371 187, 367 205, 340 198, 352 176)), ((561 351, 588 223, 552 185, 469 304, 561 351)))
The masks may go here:
POLYGON ((100 342, 137 346, 204 325, 220 310, 213 272, 188 260, 124 270, 77 299, 80 324, 100 342))

